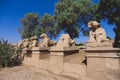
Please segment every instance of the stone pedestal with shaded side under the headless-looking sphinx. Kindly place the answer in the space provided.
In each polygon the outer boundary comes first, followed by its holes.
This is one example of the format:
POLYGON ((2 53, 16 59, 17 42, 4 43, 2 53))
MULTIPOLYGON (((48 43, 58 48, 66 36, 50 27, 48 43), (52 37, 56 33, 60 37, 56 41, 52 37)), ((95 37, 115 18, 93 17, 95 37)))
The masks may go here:
POLYGON ((55 73, 61 73, 64 70, 64 56, 78 51, 78 49, 52 48, 50 51, 50 69, 55 73))

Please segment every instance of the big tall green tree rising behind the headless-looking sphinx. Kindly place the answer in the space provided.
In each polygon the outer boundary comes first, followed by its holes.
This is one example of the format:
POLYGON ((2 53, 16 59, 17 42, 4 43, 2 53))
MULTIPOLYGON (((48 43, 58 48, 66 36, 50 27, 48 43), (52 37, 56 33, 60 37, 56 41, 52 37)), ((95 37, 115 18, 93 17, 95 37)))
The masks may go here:
POLYGON ((55 8, 55 19, 60 30, 68 33, 71 38, 78 37, 80 26, 93 19, 93 7, 91 0, 60 0, 55 8))

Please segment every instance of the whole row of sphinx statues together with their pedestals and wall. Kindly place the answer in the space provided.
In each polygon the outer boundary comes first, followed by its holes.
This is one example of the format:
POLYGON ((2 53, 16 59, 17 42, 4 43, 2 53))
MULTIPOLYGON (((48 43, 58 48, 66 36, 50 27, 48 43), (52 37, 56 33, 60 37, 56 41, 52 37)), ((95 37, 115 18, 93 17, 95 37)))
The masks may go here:
POLYGON ((88 22, 88 27, 89 40, 84 49, 76 46, 69 34, 62 34, 58 42, 45 33, 40 35, 40 42, 37 36, 20 41, 17 46, 25 55, 23 64, 79 80, 120 80, 120 49, 112 47, 97 21, 88 22))

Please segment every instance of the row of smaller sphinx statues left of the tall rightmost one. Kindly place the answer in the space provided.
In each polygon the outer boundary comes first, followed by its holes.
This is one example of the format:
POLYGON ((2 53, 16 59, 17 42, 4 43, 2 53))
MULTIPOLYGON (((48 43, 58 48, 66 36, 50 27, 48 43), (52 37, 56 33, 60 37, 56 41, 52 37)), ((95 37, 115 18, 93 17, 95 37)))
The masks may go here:
POLYGON ((75 46, 76 44, 75 40, 72 40, 69 34, 62 34, 59 42, 51 40, 46 33, 41 34, 40 38, 41 38, 40 42, 37 36, 23 39, 18 43, 17 47, 31 49, 33 47, 39 47, 39 48, 46 48, 46 47, 53 47, 53 46, 69 47, 69 46, 75 46))

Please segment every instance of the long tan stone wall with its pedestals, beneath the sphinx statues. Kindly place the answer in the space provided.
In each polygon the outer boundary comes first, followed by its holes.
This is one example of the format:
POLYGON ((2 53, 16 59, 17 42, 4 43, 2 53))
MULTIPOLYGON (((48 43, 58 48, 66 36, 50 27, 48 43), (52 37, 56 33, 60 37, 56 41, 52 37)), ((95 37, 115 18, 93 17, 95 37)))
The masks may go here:
MULTIPOLYGON (((116 48, 87 48, 83 49, 87 58, 87 65, 73 63, 69 55, 82 54, 79 50, 47 50, 33 49, 27 52, 24 63, 39 68, 47 68, 57 74, 77 75, 77 78, 86 77, 88 80, 119 80, 120 56, 116 48), (29 52, 29 53, 28 53, 29 52), (66 57, 69 58, 66 60, 66 57)), ((81 56, 81 55, 78 55, 81 56)), ((73 58, 76 56, 73 56, 73 58)), ((76 57, 77 58, 77 57, 76 57)))

